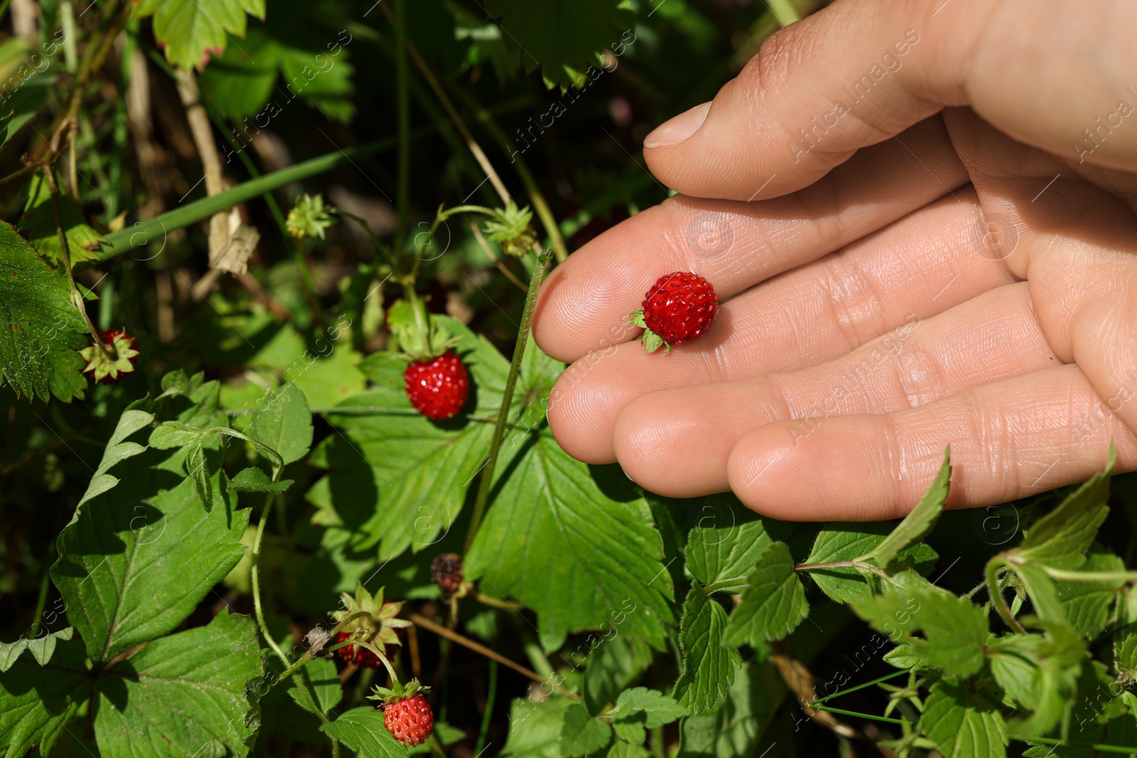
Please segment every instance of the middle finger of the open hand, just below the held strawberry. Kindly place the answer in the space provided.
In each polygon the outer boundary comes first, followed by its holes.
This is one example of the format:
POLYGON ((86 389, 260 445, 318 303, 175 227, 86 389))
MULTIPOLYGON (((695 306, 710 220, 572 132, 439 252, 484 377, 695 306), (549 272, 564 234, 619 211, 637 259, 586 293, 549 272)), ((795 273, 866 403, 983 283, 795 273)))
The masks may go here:
POLYGON ((557 441, 580 460, 612 463, 615 419, 642 394, 815 366, 1014 281, 976 252, 986 252, 976 195, 955 194, 738 295, 723 305, 719 328, 666 358, 636 342, 589 353, 550 395, 557 441))

